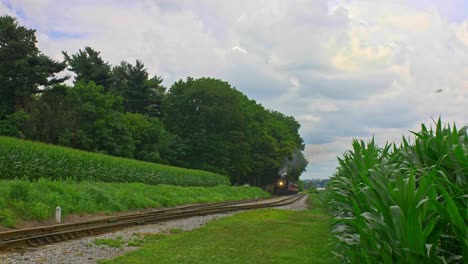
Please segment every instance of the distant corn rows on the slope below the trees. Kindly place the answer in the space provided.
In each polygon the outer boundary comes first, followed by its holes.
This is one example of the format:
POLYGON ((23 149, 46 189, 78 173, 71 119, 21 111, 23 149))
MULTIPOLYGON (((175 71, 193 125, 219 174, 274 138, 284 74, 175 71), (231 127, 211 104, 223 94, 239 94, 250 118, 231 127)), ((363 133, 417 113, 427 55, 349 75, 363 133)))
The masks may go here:
POLYGON ((225 176, 0 137, 0 179, 141 182, 178 186, 229 184, 225 176))

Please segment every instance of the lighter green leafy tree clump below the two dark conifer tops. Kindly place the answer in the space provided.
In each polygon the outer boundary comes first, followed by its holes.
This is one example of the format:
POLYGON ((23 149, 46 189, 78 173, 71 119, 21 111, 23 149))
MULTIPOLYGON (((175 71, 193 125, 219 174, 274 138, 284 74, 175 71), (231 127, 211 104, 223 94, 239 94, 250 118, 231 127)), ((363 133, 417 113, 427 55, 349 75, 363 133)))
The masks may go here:
POLYGON ((122 98, 93 82, 47 89, 31 117, 31 139, 160 163, 175 159, 177 141, 157 118, 123 112, 122 98))

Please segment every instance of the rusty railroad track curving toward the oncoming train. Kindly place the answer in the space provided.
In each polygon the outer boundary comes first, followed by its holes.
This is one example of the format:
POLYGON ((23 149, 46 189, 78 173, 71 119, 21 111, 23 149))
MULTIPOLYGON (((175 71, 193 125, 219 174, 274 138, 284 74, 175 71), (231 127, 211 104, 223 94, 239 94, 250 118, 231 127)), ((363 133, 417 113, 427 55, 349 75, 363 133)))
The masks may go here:
POLYGON ((303 195, 296 195, 262 200, 186 205, 77 223, 0 232, 0 252, 14 248, 37 247, 85 236, 98 235, 134 225, 156 223, 191 216, 283 206, 292 204, 302 197, 303 195))

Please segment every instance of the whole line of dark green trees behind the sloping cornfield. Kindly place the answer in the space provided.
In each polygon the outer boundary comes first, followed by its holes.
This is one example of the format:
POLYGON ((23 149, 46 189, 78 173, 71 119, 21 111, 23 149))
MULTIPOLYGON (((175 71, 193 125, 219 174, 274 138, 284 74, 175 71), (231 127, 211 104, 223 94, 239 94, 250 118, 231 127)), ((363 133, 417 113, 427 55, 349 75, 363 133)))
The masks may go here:
POLYGON ((213 171, 235 184, 265 185, 280 170, 297 180, 307 166, 294 117, 225 81, 188 77, 168 89, 140 60, 110 65, 85 47, 56 61, 36 43, 35 30, 0 17, 2 135, 213 171))

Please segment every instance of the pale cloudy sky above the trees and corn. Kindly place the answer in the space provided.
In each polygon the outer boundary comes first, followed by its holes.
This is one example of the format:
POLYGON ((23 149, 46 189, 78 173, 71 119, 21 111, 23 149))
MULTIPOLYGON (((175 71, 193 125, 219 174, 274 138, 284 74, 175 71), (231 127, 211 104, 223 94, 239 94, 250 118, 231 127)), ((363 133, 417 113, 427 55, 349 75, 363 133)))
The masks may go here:
POLYGON ((333 174, 352 138, 468 124, 466 0, 0 0, 0 14, 56 59, 91 46, 111 64, 141 59, 166 86, 221 78, 294 116, 302 179, 333 174))

